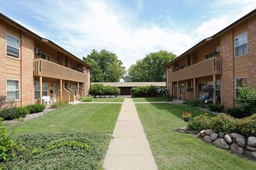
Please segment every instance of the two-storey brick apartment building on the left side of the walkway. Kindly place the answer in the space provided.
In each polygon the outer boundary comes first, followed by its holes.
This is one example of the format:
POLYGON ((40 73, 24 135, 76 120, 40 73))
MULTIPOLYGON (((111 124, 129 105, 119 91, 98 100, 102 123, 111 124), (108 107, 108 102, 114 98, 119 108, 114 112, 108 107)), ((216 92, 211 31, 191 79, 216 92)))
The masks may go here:
POLYGON ((0 95, 18 105, 74 101, 88 93, 90 66, 0 13, 0 95))

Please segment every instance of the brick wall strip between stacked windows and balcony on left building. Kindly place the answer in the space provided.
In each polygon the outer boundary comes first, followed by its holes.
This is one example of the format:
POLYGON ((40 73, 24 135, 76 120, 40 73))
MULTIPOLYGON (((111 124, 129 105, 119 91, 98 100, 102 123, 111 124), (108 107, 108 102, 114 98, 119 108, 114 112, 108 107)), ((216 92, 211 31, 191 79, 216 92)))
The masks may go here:
POLYGON ((22 106, 34 102, 33 87, 33 58, 34 42, 29 36, 22 33, 21 50, 21 96, 22 106))

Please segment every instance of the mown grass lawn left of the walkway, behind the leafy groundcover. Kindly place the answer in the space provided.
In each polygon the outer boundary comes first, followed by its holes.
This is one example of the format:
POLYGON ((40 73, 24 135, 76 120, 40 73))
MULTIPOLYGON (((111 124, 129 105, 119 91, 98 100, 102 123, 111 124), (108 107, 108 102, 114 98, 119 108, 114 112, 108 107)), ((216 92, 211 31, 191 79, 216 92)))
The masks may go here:
POLYGON ((19 131, 19 134, 88 130, 112 133, 121 106, 122 104, 78 104, 13 125, 8 130, 19 131))

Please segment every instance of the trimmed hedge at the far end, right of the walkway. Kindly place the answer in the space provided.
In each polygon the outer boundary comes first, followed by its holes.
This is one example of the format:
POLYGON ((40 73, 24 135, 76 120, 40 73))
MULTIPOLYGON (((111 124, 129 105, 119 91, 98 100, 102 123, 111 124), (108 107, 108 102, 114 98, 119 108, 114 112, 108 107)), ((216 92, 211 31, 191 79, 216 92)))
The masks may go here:
POLYGON ((130 90, 132 97, 161 97, 164 93, 168 93, 166 87, 147 86, 133 87, 130 90))

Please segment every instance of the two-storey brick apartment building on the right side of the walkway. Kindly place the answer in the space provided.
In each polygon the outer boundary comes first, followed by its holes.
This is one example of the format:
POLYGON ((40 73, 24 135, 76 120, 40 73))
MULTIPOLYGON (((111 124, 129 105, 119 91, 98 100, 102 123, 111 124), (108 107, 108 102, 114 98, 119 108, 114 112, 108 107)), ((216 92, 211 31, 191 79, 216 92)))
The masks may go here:
POLYGON ((168 63, 167 87, 182 100, 209 96, 233 107, 237 87, 256 89, 256 9, 168 63))

